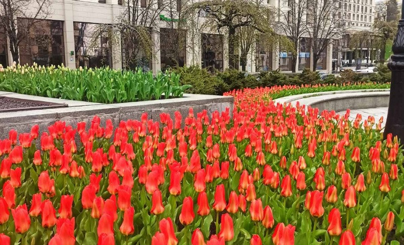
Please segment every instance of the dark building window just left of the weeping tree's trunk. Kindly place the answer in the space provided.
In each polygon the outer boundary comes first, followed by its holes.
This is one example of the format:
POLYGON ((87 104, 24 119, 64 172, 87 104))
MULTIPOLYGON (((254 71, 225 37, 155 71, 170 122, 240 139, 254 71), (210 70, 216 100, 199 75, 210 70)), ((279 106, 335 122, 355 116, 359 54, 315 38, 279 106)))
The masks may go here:
POLYGON ((206 34, 201 35, 202 44, 202 68, 214 72, 215 69, 223 70, 223 35, 206 34))

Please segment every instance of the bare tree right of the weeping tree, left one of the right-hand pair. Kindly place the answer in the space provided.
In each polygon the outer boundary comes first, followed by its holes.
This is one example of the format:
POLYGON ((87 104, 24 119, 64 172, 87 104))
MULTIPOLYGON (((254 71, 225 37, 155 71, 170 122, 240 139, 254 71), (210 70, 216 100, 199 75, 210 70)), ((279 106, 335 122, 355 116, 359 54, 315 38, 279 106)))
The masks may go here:
POLYGON ((299 40, 308 33, 307 0, 288 0, 287 7, 281 8, 279 26, 293 44, 292 72, 296 72, 299 40))

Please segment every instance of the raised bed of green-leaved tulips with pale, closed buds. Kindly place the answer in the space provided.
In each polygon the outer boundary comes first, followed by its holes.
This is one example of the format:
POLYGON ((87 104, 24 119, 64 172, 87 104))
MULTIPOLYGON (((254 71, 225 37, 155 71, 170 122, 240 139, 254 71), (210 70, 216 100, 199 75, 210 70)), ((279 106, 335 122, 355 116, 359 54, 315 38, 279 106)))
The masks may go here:
POLYGON ((110 68, 0 65, 0 91, 96 103, 124 103, 182 97, 190 85, 180 85, 179 75, 110 68))

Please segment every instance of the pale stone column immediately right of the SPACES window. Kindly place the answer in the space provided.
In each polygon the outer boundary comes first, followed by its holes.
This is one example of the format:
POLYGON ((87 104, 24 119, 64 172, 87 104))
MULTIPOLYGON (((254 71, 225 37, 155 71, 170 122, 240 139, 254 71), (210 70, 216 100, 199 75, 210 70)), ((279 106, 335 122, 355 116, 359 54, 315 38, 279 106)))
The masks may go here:
POLYGON ((71 0, 64 1, 65 21, 63 22, 63 39, 65 41, 65 66, 76 69, 74 26, 73 26, 73 3, 71 0))

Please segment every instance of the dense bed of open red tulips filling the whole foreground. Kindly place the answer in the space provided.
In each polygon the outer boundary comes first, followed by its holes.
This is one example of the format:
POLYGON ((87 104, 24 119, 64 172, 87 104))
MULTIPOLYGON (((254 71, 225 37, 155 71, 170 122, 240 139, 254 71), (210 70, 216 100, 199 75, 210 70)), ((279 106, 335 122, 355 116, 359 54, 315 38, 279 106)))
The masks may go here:
POLYGON ((0 240, 402 244, 404 157, 381 122, 247 95, 233 118, 190 109, 118 128, 94 117, 10 131, 0 240))

